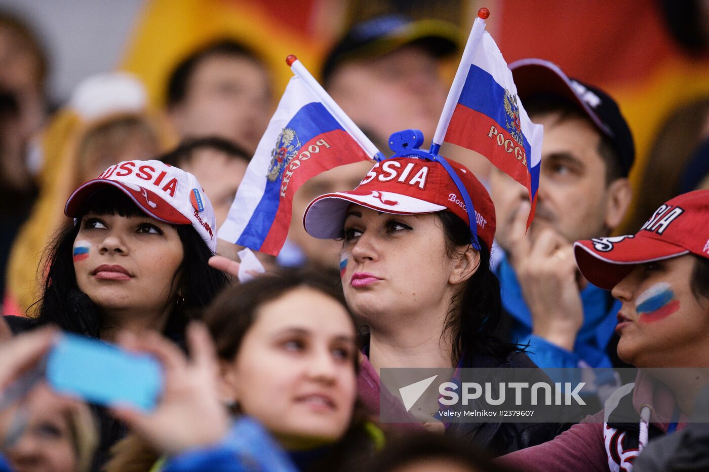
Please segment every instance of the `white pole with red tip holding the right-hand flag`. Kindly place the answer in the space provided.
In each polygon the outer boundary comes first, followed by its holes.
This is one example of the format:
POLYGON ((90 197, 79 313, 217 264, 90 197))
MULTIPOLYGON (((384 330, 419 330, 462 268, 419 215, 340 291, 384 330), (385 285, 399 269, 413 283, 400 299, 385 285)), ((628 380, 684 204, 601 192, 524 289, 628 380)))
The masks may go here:
POLYGON ((445 105, 443 106, 441 117, 438 120, 436 132, 431 141, 431 154, 438 154, 438 150, 440 150, 441 144, 445 139, 445 133, 448 130, 450 118, 453 116, 453 111, 455 110, 455 106, 460 98, 460 91, 463 89, 465 79, 468 77, 470 64, 473 60, 473 56, 475 55, 475 51, 478 49, 478 45, 480 44, 480 38, 482 38, 485 31, 485 20, 488 16, 490 16, 490 11, 488 9, 481 8, 478 10, 478 16, 473 22, 473 28, 470 30, 468 42, 465 44, 463 56, 460 58, 458 70, 453 78, 453 84, 450 86, 450 91, 448 91, 448 96, 445 99, 445 105))

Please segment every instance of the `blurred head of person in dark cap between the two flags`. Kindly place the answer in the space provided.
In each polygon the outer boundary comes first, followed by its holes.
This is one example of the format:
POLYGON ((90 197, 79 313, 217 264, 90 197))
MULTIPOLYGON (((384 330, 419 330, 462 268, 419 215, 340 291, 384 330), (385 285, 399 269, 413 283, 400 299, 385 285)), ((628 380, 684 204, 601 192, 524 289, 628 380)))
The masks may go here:
POLYGON ((439 59, 458 44, 459 31, 450 23, 379 16, 352 27, 330 50, 323 83, 375 141, 407 128, 430 140, 447 94, 439 59))

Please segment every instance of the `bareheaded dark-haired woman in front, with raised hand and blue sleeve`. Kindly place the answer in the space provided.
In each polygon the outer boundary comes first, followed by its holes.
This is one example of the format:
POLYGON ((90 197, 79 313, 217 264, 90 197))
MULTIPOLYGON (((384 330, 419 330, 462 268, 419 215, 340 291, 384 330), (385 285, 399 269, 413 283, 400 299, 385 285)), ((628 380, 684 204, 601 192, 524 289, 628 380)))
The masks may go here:
MULTIPOLYGON (((167 470, 241 470, 244 453, 256 462, 249 470, 356 470, 381 446, 379 429, 355 409, 357 331, 342 292, 329 278, 303 271, 262 276, 220 293, 203 318, 216 349, 209 356, 191 350, 194 359, 211 357, 216 364, 218 357, 219 394, 209 382, 173 376, 173 370, 182 370, 184 356, 168 350, 162 339, 132 346, 154 352, 168 366, 167 393, 155 412, 118 412, 149 440, 152 460, 160 453, 175 456, 192 450, 173 459, 167 470), (235 414, 231 432, 226 410, 216 408, 219 397, 235 414), (205 400, 211 400, 211 408, 204 406, 205 400), (239 420, 243 415, 257 420, 276 446, 251 442, 239 420), (287 453, 281 463, 278 449, 287 453)), ((190 375, 196 379, 199 370, 197 364, 190 375)), ((150 468, 150 463, 135 464, 137 457, 150 458, 139 453, 145 441, 127 438, 116 449, 108 472, 126 470, 128 464, 132 470, 150 468)))

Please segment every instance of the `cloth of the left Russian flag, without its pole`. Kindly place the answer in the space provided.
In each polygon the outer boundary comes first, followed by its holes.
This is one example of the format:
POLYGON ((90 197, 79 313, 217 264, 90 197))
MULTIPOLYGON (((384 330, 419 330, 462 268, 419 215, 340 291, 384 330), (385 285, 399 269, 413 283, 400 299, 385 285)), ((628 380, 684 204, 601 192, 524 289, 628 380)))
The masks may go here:
POLYGON ((323 103, 312 89, 303 78, 291 77, 219 228, 221 239, 277 255, 298 188, 320 172, 370 159, 345 130, 347 123, 331 113, 331 103, 323 103))

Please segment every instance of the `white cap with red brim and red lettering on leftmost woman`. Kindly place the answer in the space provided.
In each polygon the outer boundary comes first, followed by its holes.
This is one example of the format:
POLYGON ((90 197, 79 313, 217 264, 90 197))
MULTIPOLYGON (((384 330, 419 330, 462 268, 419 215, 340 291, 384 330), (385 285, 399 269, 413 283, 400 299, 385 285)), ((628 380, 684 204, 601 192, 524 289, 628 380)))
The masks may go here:
POLYGON ((173 225, 192 225, 207 246, 216 251, 216 220, 212 203, 196 177, 163 162, 124 161, 108 167, 67 200, 64 213, 78 218, 86 200, 105 186, 114 186, 156 220, 173 225))

